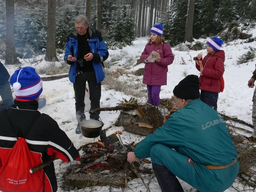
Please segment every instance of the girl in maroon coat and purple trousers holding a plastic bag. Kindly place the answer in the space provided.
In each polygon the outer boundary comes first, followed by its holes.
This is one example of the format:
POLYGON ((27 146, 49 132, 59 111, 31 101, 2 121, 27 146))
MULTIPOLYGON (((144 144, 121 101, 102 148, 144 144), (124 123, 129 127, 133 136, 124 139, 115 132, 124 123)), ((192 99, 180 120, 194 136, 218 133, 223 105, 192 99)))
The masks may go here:
POLYGON ((145 63, 143 83, 147 84, 148 103, 159 105, 159 93, 162 85, 167 84, 167 65, 173 63, 173 53, 169 44, 165 42, 163 26, 155 24, 150 30, 150 39, 140 56, 145 63))

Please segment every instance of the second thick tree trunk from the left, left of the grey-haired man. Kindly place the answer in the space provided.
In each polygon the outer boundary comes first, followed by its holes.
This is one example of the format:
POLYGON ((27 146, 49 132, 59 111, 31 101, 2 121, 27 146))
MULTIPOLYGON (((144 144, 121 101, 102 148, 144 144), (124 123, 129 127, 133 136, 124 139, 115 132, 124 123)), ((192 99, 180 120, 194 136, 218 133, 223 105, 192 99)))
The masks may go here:
POLYGON ((58 61, 56 56, 56 1, 48 0, 47 4, 47 40, 46 61, 58 61))

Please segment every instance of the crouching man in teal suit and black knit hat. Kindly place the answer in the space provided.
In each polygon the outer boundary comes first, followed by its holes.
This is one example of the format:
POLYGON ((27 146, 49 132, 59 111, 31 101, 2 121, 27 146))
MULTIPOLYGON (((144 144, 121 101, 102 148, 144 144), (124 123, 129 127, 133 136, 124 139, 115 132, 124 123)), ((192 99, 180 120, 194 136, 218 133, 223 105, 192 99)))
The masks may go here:
POLYGON ((200 101, 196 75, 181 80, 173 94, 179 109, 129 152, 127 161, 150 157, 163 192, 183 192, 176 176, 200 192, 225 191, 240 166, 225 121, 200 101))

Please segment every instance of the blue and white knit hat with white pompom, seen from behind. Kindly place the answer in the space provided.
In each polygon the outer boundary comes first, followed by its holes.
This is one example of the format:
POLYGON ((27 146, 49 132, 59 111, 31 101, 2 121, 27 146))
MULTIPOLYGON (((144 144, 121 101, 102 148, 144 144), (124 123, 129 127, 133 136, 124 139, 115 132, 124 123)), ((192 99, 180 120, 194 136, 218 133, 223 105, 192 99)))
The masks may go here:
POLYGON ((17 69, 11 76, 10 84, 17 99, 32 101, 43 91, 43 83, 33 67, 17 69))

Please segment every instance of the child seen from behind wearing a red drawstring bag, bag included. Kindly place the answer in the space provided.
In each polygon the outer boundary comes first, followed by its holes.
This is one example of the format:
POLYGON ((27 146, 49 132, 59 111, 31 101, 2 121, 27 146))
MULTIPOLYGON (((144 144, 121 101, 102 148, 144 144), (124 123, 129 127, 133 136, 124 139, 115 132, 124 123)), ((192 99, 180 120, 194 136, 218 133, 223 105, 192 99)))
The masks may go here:
POLYGON ((16 98, 0 112, 0 191, 56 192, 53 163, 32 174, 29 169, 54 155, 78 160, 79 153, 57 122, 37 110, 43 88, 35 69, 16 70, 10 83, 16 98))

